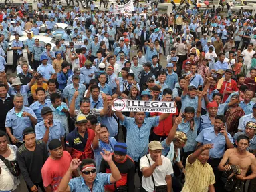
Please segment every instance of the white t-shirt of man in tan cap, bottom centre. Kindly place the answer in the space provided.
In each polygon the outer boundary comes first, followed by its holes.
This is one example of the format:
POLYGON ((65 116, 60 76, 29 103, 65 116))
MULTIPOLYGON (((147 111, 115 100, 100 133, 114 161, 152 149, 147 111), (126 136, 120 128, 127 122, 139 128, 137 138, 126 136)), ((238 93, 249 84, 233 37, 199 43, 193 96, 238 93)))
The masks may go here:
MULTIPOLYGON (((142 171, 142 167, 150 167, 150 165, 153 165, 155 163, 151 159, 149 154, 147 156, 148 158, 144 156, 140 159, 140 171, 142 171), (148 163, 148 159, 150 160, 150 165, 148 163)), ((151 176, 147 178, 144 176, 142 177, 142 187, 148 192, 154 191, 154 184, 156 186, 167 185, 165 181, 166 175, 173 174, 172 163, 170 162, 170 159, 168 159, 167 157, 164 157, 163 155, 161 155, 161 158, 162 158, 162 165, 154 169, 154 173, 153 173, 154 183, 151 176)))

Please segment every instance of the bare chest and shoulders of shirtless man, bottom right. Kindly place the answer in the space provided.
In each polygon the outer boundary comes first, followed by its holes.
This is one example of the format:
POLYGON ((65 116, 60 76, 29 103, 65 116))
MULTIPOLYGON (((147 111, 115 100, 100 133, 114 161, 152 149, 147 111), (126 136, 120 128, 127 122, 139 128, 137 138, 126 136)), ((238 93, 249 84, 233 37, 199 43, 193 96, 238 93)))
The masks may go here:
POLYGON ((246 176, 248 169, 251 167, 255 156, 249 151, 245 151, 244 154, 238 152, 237 148, 227 149, 229 154, 229 165, 237 165, 241 169, 241 176, 246 176))

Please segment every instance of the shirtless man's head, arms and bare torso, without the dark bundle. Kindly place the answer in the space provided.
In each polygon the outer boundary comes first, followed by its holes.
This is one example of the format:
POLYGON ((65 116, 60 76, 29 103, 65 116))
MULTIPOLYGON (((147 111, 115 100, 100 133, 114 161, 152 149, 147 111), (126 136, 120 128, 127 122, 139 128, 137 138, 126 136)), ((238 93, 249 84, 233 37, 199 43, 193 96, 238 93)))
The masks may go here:
POLYGON ((256 177, 256 158, 252 153, 246 150, 249 145, 249 137, 246 135, 239 135, 235 143, 237 148, 227 149, 227 151, 225 151, 218 168, 220 171, 229 171, 231 170, 231 165, 237 165, 241 170, 241 174, 235 174, 235 177, 241 181, 251 180, 256 177), (226 165, 228 160, 229 163, 226 165), (250 167, 252 173, 246 176, 250 167))

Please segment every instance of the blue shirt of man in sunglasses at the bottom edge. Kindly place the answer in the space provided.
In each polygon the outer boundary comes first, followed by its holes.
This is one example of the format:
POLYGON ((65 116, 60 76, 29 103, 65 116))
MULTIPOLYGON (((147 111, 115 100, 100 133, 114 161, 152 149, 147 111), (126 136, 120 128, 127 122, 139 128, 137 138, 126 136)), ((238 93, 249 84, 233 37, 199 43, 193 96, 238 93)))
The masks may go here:
MULTIPOLYGON (((110 175, 109 173, 97 173, 94 184, 92 185, 92 191, 104 191, 104 185, 111 184, 110 175)), ((68 186, 70 186, 70 192, 91 192, 91 189, 86 185, 82 176, 70 179, 68 186)))

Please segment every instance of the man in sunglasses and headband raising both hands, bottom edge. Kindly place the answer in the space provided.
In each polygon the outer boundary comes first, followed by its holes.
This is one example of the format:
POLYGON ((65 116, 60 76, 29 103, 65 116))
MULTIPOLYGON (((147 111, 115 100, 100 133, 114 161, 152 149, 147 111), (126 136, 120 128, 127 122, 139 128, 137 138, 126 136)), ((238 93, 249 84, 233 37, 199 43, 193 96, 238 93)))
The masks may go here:
POLYGON ((121 174, 112 160, 110 151, 100 152, 102 158, 108 162, 110 173, 96 173, 96 163, 92 159, 73 159, 70 168, 59 184, 58 191, 104 191, 104 185, 115 183, 121 179, 121 174), (80 177, 70 180, 72 172, 80 168, 80 177))

